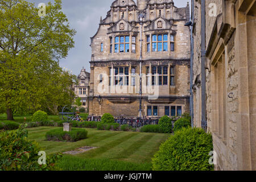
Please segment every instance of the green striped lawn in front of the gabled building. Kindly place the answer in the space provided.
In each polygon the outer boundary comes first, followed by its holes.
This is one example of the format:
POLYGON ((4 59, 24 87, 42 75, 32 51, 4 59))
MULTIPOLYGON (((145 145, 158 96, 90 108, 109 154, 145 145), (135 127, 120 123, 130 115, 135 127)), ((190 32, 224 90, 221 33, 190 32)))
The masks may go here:
POLYGON ((36 140, 48 155, 75 150, 82 146, 97 147, 75 156, 64 155, 61 167, 65 170, 150 170, 152 156, 159 150, 160 144, 170 136, 159 133, 86 129, 88 138, 78 142, 47 141, 44 136, 53 128, 56 127, 28 129, 28 139, 36 140), (113 164, 116 164, 116 167, 113 167, 113 164))

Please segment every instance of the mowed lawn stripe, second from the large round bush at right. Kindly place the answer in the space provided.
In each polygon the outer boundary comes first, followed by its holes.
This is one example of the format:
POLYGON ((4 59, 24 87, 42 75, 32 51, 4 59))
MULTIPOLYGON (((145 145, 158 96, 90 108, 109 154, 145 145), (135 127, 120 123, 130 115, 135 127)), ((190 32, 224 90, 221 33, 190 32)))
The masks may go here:
POLYGON ((144 143, 150 140, 153 137, 152 134, 139 133, 131 137, 130 139, 122 142, 118 146, 113 147, 111 150, 101 154, 99 158, 108 158, 108 159, 125 159, 128 158, 131 154, 137 151, 144 143))

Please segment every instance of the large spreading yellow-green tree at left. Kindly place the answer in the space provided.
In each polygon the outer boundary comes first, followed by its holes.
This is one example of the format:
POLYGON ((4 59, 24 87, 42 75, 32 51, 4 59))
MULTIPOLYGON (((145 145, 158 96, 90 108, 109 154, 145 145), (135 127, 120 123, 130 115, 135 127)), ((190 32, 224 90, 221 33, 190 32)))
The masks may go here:
POLYGON ((64 93, 73 78, 59 67, 76 34, 61 11, 61 0, 48 3, 46 16, 38 11, 24 0, 0 1, 0 105, 8 120, 15 109, 36 110, 49 100, 60 101, 61 94, 54 95, 64 93))

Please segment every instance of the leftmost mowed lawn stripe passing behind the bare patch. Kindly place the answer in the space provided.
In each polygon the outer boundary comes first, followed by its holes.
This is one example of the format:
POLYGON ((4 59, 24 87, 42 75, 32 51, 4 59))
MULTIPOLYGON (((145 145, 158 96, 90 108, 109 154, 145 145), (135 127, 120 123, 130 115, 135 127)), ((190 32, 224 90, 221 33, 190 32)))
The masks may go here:
POLYGON ((46 152, 48 154, 55 154, 57 152, 65 152, 70 150, 75 150, 76 148, 82 146, 93 146, 93 143, 98 141, 103 141, 105 138, 115 137, 119 133, 98 133, 98 135, 94 135, 92 138, 87 138, 84 140, 80 140, 78 142, 54 142, 53 144, 48 144, 49 141, 40 142, 42 147, 46 147, 46 152))

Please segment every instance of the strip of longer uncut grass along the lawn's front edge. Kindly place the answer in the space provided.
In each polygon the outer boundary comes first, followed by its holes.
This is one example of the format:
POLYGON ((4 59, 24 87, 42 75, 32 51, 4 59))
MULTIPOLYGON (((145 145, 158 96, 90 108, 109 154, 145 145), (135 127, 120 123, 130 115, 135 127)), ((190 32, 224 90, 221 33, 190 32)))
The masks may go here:
POLYGON ((57 166, 64 171, 150 171, 150 163, 131 163, 109 159, 81 159, 64 156, 57 166))

